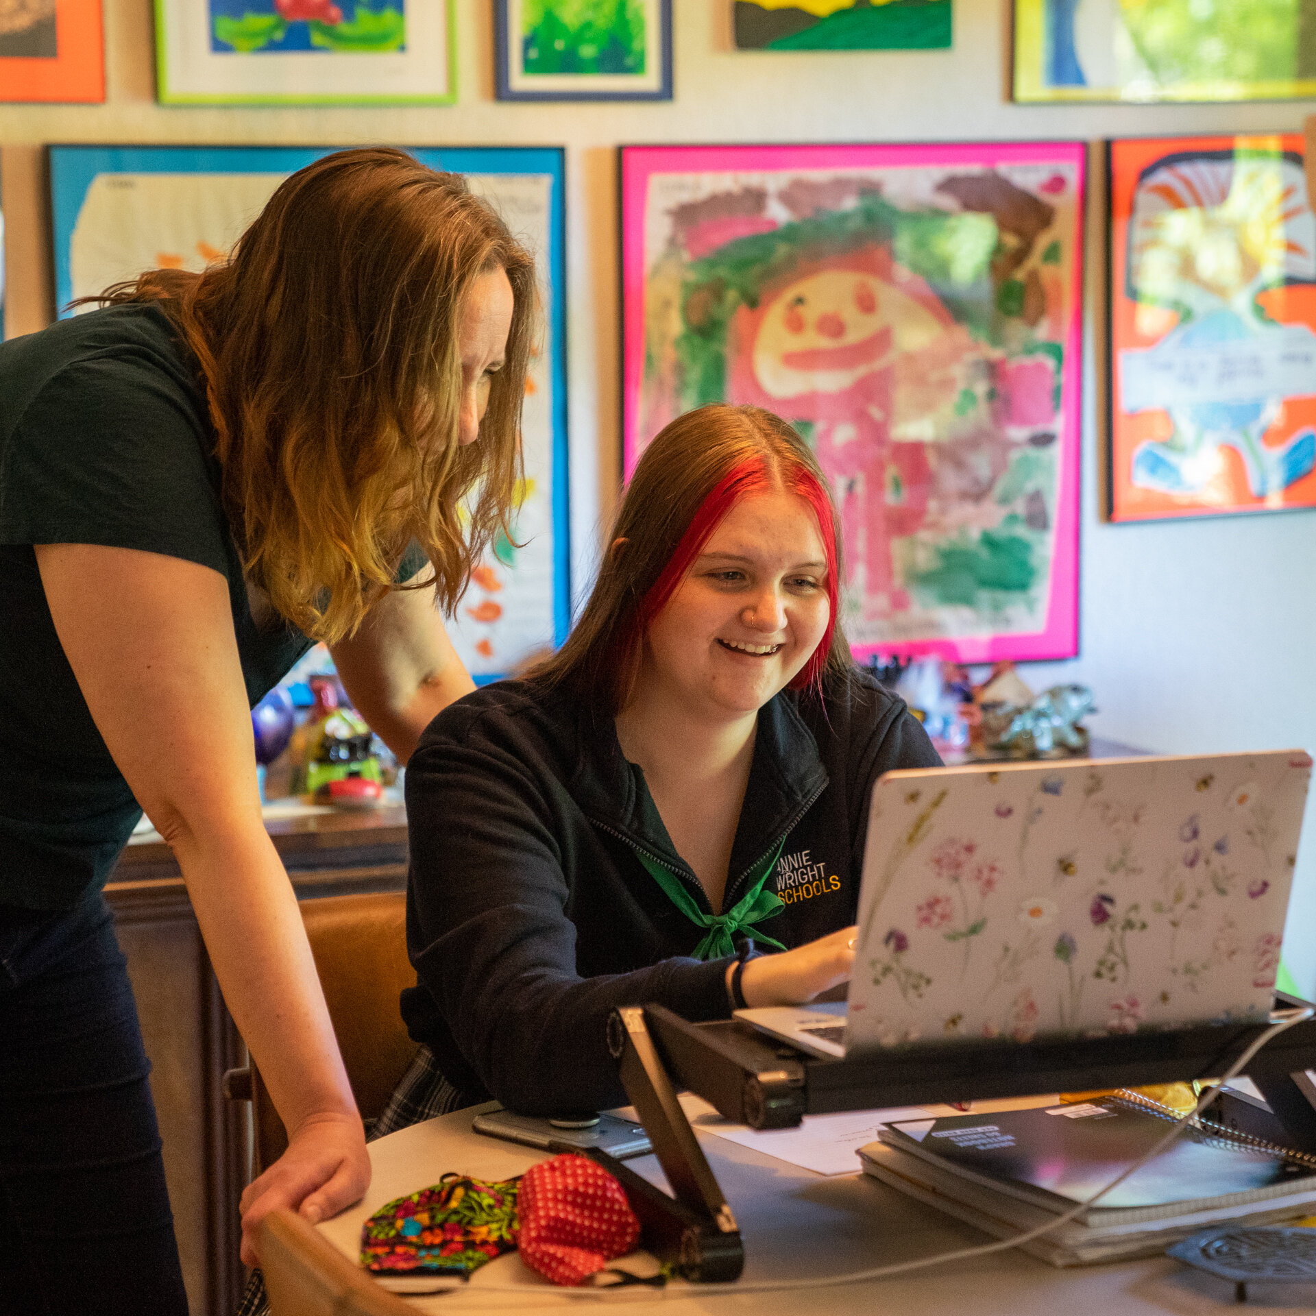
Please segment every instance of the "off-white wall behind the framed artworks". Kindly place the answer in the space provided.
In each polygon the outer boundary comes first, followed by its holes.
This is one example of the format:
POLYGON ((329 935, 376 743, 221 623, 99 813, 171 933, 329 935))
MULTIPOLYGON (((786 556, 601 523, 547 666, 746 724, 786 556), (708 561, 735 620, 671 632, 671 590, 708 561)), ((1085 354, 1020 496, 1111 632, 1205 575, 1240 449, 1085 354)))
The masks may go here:
MULTIPOLYGON (((675 0, 670 104, 494 100, 487 0, 458 0, 459 103, 441 108, 163 108, 153 100, 150 0, 105 0, 109 100, 0 105, 9 332, 50 315, 41 246, 45 142, 303 142, 567 146, 574 574, 588 582, 619 471, 616 154, 621 142, 1083 138, 1296 130, 1312 103, 1012 105, 1005 0, 957 0, 950 53, 741 54, 730 0, 675 0), (28 147, 28 149, 25 149, 28 147)), ((1098 509, 1094 365, 1101 332, 1104 195, 1094 179, 1084 379, 1082 655, 1038 665, 1042 687, 1096 692, 1100 734, 1163 751, 1316 749, 1316 512, 1107 525, 1098 509)), ((1308 813, 1311 820, 1316 809, 1308 813)), ((1316 992, 1316 822, 1299 857, 1286 961, 1316 992)))

